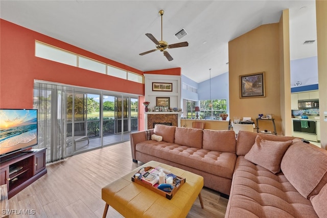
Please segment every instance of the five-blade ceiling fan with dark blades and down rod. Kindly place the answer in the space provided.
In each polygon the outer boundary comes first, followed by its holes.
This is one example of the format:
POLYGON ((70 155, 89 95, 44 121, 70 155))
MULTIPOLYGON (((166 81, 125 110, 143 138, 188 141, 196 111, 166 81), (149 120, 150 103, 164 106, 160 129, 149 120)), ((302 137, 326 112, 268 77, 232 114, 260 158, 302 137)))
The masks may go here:
POLYGON ((164 15, 164 10, 160 10, 159 14, 161 16, 161 41, 158 41, 156 38, 154 38, 154 36, 151 33, 146 33, 145 35, 147 37, 149 37, 149 39, 151 39, 156 46, 156 49, 141 53, 139 55, 146 55, 149 54, 151 52, 155 52, 157 50, 159 50, 160 52, 164 53, 164 56, 169 60, 172 61, 173 58, 172 56, 166 51, 166 49, 175 49, 175 47, 185 47, 185 46, 189 46, 188 42, 179 42, 179 43, 175 43, 175 44, 168 44, 166 41, 162 40, 162 15, 164 15))

